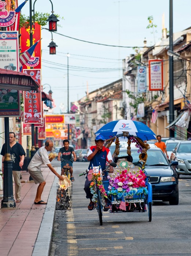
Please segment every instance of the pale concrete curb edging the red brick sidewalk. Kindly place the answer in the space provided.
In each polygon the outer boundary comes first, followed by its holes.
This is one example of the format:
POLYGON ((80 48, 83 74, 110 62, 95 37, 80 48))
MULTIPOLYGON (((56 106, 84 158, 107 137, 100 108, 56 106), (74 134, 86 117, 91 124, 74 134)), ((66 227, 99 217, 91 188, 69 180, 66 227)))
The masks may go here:
POLYGON ((56 184, 57 179, 55 177, 52 188, 50 189, 48 204, 46 205, 32 256, 48 256, 50 253, 56 209, 56 184))

